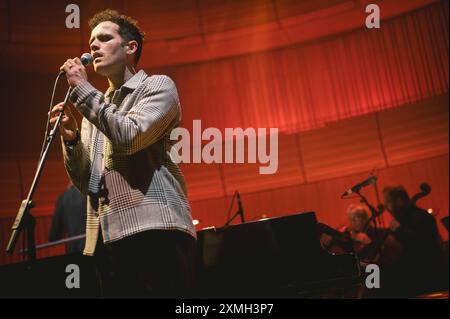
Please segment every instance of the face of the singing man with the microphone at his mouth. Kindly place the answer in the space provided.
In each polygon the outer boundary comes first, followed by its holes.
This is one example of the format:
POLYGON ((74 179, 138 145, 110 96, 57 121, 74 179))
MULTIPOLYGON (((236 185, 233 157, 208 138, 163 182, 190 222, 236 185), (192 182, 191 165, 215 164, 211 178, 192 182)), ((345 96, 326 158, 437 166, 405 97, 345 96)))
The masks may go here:
POLYGON ((100 75, 118 73, 127 63, 124 40, 119 34, 119 26, 114 22, 99 23, 91 32, 89 46, 94 57, 94 70, 100 75))

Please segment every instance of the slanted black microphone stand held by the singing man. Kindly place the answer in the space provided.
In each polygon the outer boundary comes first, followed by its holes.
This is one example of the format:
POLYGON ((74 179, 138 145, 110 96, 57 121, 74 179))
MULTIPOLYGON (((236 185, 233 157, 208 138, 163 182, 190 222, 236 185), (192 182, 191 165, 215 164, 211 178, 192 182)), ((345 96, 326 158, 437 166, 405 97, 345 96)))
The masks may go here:
POLYGON ((56 135, 57 130, 61 124, 62 118, 64 116, 64 108, 69 100, 70 93, 72 88, 67 90, 66 97, 64 98, 63 111, 59 114, 58 119, 56 120, 55 126, 50 131, 47 139, 45 141, 44 152, 42 153, 41 158, 39 159, 38 167, 36 173, 34 175, 33 182, 30 187, 30 191, 28 192, 28 196, 24 199, 20 205, 19 212, 17 213, 16 219, 14 220, 14 224, 12 226, 12 233, 9 238, 8 245, 6 247, 6 253, 11 255, 14 251, 14 248, 17 244, 17 239, 19 238, 20 232, 26 231, 27 238, 27 260, 28 262, 32 262, 36 260, 36 243, 34 240, 34 228, 36 226, 36 219, 31 214, 31 208, 35 206, 33 201, 33 195, 36 190, 37 184, 42 174, 42 170, 44 168, 45 162, 47 160, 47 156, 50 150, 50 147, 53 143, 54 137, 56 135))

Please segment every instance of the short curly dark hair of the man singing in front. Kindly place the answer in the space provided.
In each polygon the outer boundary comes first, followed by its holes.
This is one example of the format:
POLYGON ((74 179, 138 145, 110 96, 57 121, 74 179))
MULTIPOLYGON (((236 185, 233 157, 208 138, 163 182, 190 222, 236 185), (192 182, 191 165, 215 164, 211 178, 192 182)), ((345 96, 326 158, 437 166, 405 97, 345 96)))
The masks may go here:
POLYGON ((119 26, 119 34, 125 41, 135 40, 138 44, 134 54, 134 63, 137 64, 142 53, 142 43, 145 33, 138 27, 138 22, 131 17, 119 14, 115 10, 106 9, 96 13, 89 20, 89 27, 93 30, 102 22, 111 21, 119 26))

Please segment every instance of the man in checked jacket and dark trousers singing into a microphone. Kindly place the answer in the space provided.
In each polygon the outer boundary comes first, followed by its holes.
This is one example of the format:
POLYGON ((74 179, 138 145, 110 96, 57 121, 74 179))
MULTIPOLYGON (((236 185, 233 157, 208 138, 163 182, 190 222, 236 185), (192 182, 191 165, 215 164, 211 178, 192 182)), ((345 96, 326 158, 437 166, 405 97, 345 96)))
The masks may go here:
MULTIPOLYGON (((183 174, 170 157, 170 132, 181 118, 175 83, 135 70, 144 34, 133 19, 108 9, 89 26, 94 70, 108 90, 88 82, 79 58, 61 67, 73 104, 60 126, 64 164, 88 195, 84 254, 97 257, 104 296, 186 295, 196 233, 183 174)), ((52 124, 62 109, 53 107, 52 124)))

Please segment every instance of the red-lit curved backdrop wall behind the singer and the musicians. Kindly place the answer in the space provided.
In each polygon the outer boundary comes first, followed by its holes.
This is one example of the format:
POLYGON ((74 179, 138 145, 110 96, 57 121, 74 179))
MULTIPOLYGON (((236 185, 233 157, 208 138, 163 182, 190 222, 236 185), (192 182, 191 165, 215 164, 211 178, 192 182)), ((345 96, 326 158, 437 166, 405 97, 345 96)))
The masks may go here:
MULTIPOLYGON (((294 3, 281 2, 286 6, 294 3)), ((327 1, 331 2, 334 10, 345 11, 349 5, 346 1, 327 1)), ((98 2, 93 3, 91 11, 101 9, 98 2)), ((132 14, 123 2, 114 3, 121 3, 118 9, 132 14)), ((168 74, 175 80, 183 107, 182 126, 190 131, 196 119, 202 121, 203 129, 217 127, 222 132, 227 127, 279 129, 276 174, 260 175, 259 164, 182 164, 193 215, 200 220, 198 229, 225 223, 235 190, 242 194, 248 220, 315 211, 320 222, 339 227, 345 223, 347 206, 356 201, 341 200, 340 194, 372 172, 379 177, 380 192, 384 186, 403 184, 413 194, 420 183, 428 182, 432 192, 419 204, 433 209, 441 235, 448 238, 439 222, 448 215, 449 192, 448 1, 409 3, 417 7, 382 19, 380 29, 330 24, 323 34, 305 30, 303 40, 299 35, 292 44, 273 39, 270 41, 276 45, 255 42, 247 44, 252 47, 249 49, 242 44, 240 51, 230 48, 228 56, 210 52, 208 58, 195 55, 193 49, 187 50, 187 60, 181 61, 180 55, 170 53, 170 46, 164 49, 169 50, 167 56, 173 57, 172 61, 160 54, 152 63, 148 53, 143 56, 142 67, 148 73, 168 74)), ((17 6, 9 3, 7 9, 17 16, 17 6)), ((389 8, 386 12, 394 12, 389 8)), ((303 15, 305 25, 318 21, 327 10, 303 15)), ((144 27, 149 26, 145 16, 137 18, 144 19, 144 27)), ((258 21, 253 22, 268 22, 258 21)), ((283 20, 284 26, 286 21, 290 20, 283 20)), ((237 37, 240 25, 233 28, 233 37, 237 37)), ((270 34, 268 29, 260 32, 270 34)), ((82 29, 80 37, 87 38, 88 34, 82 29)), ((213 34, 205 35, 210 44, 214 43, 213 34)), ((15 39, 14 30, 0 34, 1 43, 9 48, 3 52, 9 54, 11 48, 20 46, 15 39)), ((33 50, 43 52, 39 34, 24 39, 35 44, 28 46, 30 54, 33 50)), ((154 52, 157 46, 150 45, 150 49, 154 52)), ((81 45, 80 51, 86 50, 81 45)), ((22 47, 20 54, 23 51, 22 47)), ((57 63, 44 61, 46 69, 40 66, 30 71, 24 66, 15 70, 1 60, 2 78, 8 79, 0 87, 4 97, 0 264, 4 264, 20 259, 6 256, 4 248, 21 199, 26 196, 23 192, 28 190, 36 169, 57 63), (25 89, 26 94, 21 93, 25 89)), ((99 89, 105 88, 101 79, 92 72, 90 76, 99 89)), ((60 145, 55 143, 35 196, 37 243, 46 242, 54 203, 66 184, 60 145)), ((364 192, 376 203, 374 188, 364 192)), ((388 222, 389 216, 385 216, 388 222)), ((56 247, 42 250, 38 256, 63 252, 63 247, 56 247)))

